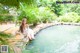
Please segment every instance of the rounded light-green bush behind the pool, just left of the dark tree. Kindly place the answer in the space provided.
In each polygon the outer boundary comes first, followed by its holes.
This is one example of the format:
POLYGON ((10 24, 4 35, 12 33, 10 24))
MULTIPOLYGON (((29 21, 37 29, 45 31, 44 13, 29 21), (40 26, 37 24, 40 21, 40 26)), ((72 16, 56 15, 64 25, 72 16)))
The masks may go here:
POLYGON ((42 9, 41 11, 39 11, 40 13, 39 16, 41 16, 40 20, 42 22, 51 22, 57 18, 57 16, 53 12, 50 11, 50 8, 48 7, 40 7, 40 8, 42 9))

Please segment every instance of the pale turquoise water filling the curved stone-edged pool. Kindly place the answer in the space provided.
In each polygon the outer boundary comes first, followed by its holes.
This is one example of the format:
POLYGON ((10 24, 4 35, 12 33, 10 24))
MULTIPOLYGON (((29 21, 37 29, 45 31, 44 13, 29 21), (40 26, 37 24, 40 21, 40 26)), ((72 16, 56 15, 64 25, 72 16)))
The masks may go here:
POLYGON ((23 48, 23 53, 80 53, 80 26, 51 26, 35 38, 23 48))

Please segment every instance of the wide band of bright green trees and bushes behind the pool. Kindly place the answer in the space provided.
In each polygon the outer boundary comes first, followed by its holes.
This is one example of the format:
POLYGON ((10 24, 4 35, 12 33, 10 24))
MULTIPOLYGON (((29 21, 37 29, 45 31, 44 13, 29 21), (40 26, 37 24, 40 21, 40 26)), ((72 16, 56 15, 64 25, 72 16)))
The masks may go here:
MULTIPOLYGON (((8 0, 0 0, 0 13, 9 14, 10 6, 17 6, 16 12, 19 14, 18 21, 21 21, 23 17, 27 17, 28 23, 37 24, 41 22, 52 22, 59 16, 59 18, 57 18, 58 21, 80 22, 79 4, 56 4, 56 1, 57 0, 9 0, 8 2, 8 0), (5 9, 5 7, 8 7, 8 9, 5 9)), ((15 17, 12 16, 0 16, 0 22, 14 20, 15 17)))

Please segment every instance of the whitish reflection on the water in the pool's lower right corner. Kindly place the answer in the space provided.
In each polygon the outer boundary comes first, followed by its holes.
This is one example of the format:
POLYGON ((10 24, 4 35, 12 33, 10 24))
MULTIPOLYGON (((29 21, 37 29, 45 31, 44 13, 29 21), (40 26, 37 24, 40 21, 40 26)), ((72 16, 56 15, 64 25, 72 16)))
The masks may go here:
POLYGON ((55 50, 55 53, 80 53, 80 40, 69 42, 55 50))

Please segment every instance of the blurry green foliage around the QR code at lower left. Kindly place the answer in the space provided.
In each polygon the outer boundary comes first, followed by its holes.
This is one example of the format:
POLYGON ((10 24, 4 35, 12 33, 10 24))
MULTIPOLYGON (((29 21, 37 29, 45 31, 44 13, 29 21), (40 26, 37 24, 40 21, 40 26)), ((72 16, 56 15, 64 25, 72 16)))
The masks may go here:
MULTIPOLYGON (((11 34, 5 34, 3 32, 0 32, 0 45, 9 45, 9 42, 7 39, 11 37, 11 34)), ((9 53, 14 53, 13 49, 11 46, 9 46, 9 53)))

